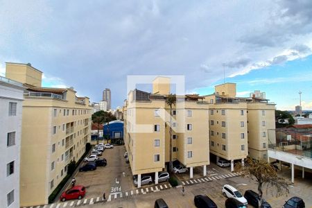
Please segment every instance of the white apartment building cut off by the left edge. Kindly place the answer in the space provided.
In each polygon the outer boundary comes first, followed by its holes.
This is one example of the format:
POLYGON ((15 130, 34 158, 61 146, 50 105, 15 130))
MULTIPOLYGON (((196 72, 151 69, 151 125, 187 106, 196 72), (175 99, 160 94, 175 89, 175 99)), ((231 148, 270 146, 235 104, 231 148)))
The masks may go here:
POLYGON ((21 103, 24 87, 0 76, 0 207, 19 207, 21 103))

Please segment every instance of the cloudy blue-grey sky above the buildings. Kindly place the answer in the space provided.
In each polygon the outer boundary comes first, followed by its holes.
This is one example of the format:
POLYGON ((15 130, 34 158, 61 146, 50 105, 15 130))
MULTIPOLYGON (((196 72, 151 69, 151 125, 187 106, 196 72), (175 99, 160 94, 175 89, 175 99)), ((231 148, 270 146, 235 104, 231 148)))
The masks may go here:
POLYGON ((5 62, 30 62, 46 87, 123 105, 127 76, 185 76, 187 93, 237 83, 279 110, 312 110, 312 1, 2 1, 5 62), (223 73, 225 72, 225 73, 223 73))

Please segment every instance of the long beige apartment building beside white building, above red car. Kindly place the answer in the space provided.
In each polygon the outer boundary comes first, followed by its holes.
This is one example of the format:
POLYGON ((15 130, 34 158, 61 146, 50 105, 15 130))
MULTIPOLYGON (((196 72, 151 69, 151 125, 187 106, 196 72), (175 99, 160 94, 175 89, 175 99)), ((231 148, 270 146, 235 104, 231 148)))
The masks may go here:
POLYGON ((42 87, 42 71, 6 63, 6 77, 24 84, 21 124, 20 206, 44 205, 91 140, 89 98, 73 88, 42 87))

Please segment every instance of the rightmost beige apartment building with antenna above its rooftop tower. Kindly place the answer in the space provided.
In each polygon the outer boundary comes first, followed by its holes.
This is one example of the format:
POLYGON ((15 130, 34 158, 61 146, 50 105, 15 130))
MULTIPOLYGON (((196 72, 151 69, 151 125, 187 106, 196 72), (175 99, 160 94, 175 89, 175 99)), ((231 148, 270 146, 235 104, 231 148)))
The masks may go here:
POLYGON ((266 98, 236 97, 236 84, 215 86, 214 94, 205 96, 209 102, 210 153, 216 159, 244 162, 250 155, 266 159, 268 129, 275 129, 275 104, 266 98))

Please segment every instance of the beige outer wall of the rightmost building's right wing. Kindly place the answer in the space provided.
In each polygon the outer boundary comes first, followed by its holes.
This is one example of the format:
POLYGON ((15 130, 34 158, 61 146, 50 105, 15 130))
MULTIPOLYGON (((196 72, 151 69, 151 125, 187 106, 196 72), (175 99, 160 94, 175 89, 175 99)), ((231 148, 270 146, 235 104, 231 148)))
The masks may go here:
MULTIPOLYGON (((275 105, 248 103, 247 106, 249 155, 254 159, 266 160, 269 130, 275 130, 275 105)), ((275 141, 275 138, 270 139, 275 141)))

